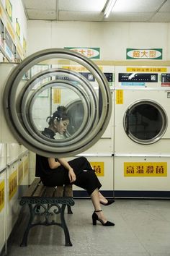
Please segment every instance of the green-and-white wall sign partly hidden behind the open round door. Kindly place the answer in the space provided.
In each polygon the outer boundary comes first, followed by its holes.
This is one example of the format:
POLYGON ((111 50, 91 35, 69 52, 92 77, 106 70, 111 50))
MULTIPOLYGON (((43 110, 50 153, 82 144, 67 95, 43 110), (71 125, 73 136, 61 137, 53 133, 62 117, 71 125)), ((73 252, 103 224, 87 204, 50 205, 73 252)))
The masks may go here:
POLYGON ((79 54, 83 54, 89 59, 99 59, 100 58, 100 48, 86 48, 86 47, 64 47, 71 51, 76 51, 79 54))

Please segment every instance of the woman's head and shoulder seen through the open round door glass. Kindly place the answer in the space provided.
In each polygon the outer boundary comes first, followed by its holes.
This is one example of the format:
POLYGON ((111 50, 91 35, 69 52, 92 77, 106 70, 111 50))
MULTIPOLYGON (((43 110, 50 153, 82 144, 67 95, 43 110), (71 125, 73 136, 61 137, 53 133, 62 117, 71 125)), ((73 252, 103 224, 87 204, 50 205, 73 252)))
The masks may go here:
POLYGON ((42 131, 42 135, 55 140, 66 138, 69 118, 64 106, 58 106, 57 111, 55 111, 52 116, 48 116, 46 121, 48 121, 49 127, 42 131))

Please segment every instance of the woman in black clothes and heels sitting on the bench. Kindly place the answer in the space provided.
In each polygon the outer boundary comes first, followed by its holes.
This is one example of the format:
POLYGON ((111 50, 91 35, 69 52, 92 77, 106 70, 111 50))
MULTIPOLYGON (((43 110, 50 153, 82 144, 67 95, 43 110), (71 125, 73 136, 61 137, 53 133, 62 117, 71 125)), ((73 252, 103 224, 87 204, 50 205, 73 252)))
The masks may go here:
MULTIPOLYGON (((45 128, 42 132, 43 135, 52 139, 54 139, 57 132, 60 135, 65 135, 69 124, 66 108, 59 106, 58 110, 52 116, 49 116, 47 121, 49 127, 45 128)), ((91 168, 86 158, 75 158, 67 162, 65 158, 55 159, 36 155, 35 175, 40 176, 45 186, 75 184, 86 189, 94 205, 94 213, 92 214, 93 225, 96 225, 97 221, 99 221, 103 226, 115 226, 114 223, 107 221, 100 205, 110 205, 114 200, 108 201, 99 192, 102 184, 100 184, 94 169, 91 168)))

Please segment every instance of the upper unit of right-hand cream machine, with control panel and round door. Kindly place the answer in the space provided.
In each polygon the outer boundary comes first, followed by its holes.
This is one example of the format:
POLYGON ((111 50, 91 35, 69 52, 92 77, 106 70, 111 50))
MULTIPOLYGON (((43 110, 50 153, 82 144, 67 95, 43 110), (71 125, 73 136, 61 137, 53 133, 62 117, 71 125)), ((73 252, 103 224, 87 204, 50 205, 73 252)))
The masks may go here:
POLYGON ((169 154, 170 88, 162 86, 161 68, 128 69, 115 72, 115 155, 169 154))

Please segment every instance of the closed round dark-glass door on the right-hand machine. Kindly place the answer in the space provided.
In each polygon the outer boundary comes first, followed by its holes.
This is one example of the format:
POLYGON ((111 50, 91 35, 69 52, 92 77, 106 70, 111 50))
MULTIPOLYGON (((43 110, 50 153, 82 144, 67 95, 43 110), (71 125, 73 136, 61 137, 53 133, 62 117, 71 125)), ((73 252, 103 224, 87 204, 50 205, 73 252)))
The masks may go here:
POLYGON ((140 100, 128 107, 123 125, 131 140, 140 144, 152 144, 161 140, 166 132, 167 116, 164 108, 151 100, 140 100))

